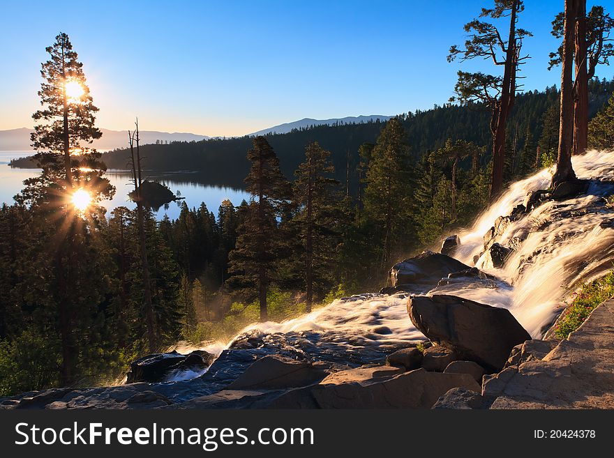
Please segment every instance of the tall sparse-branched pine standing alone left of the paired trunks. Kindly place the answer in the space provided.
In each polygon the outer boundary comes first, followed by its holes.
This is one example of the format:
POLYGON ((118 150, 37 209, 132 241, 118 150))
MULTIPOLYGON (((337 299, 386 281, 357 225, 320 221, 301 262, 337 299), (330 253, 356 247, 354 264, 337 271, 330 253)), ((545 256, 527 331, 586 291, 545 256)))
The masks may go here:
POLYGON ((503 66, 503 77, 483 72, 458 71, 458 82, 454 88, 461 104, 482 103, 491 109, 491 132, 493 135, 493 175, 491 179, 491 200, 498 197, 503 188, 503 169, 505 162, 505 135, 507 119, 514 107, 518 91, 518 66, 528 56, 521 57, 523 40, 531 33, 516 26, 518 14, 524 10, 520 0, 495 0, 494 8, 482 8, 479 17, 493 20, 509 17, 509 34, 503 40, 497 26, 491 22, 474 19, 465 24, 470 33, 465 41, 465 49, 457 45, 450 47, 448 61, 462 56, 461 61, 470 59, 492 59, 495 66, 503 66))

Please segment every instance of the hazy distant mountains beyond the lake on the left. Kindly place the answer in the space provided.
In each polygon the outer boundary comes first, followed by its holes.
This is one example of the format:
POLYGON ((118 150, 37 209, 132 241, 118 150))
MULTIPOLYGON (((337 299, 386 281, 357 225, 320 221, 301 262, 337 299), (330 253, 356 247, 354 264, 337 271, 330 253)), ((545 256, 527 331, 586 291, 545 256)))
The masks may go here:
MULTIPOLYGON (((92 146, 100 150, 126 148, 128 146, 127 130, 100 129, 103 137, 94 141, 92 146)), ((10 130, 0 130, 0 151, 29 151, 30 134, 32 129, 20 128, 10 130)), ((141 130, 139 132, 141 144, 151 144, 160 142, 198 142, 208 139, 206 135, 196 135, 183 132, 157 132, 156 130, 141 130)))

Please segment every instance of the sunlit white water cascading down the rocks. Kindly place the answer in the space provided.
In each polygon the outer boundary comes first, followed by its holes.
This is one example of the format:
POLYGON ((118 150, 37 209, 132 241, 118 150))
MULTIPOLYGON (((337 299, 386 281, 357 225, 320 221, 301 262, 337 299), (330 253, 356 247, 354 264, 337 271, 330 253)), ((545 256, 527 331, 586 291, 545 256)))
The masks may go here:
MULTIPOLYGON (((451 284, 437 287, 428 294, 446 293, 505 307, 532 337, 541 337, 561 311, 569 288, 580 280, 591 280, 614 268, 614 229, 600 226, 603 222, 614 221, 614 208, 601 201, 601 197, 614 192, 614 185, 607 183, 614 182, 614 152, 589 151, 574 156, 572 162, 578 178, 591 178, 596 182, 581 197, 544 201, 510 222, 497 237, 497 242, 508 245, 515 238, 521 242, 516 244, 504 268, 493 268, 488 256, 482 254, 484 234, 493 227, 497 217, 509 215, 515 206, 522 204, 528 192, 548 188, 551 171, 541 170, 511 185, 470 229, 458 234, 461 245, 454 257, 507 284, 451 284), (476 256, 479 258, 474 264, 476 256)), ((406 305, 404 294, 367 293, 335 300, 326 307, 283 323, 253 324, 237 337, 248 332, 285 337, 298 334, 301 339, 309 340, 310 348, 347 355, 370 349, 385 351, 405 342, 424 339, 412 326, 406 305)), ((292 342, 297 342, 292 338, 292 342)), ((223 347, 202 348, 219 354, 223 347)))

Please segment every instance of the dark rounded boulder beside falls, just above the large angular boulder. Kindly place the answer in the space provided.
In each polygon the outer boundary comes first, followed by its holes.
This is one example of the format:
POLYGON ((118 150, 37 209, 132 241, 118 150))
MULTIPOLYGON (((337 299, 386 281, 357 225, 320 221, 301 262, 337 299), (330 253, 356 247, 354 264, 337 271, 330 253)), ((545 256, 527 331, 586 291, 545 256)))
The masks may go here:
POLYGON ((418 256, 405 259, 395 264, 390 270, 390 282, 393 287, 398 284, 437 284, 450 273, 470 268, 445 254, 425 251, 418 256))

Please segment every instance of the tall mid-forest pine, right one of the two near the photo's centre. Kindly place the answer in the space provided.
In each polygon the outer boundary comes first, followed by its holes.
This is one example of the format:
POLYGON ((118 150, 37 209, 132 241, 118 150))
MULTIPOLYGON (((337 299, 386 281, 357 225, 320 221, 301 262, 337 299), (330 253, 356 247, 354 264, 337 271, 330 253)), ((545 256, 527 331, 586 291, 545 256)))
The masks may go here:
POLYGON ((314 284, 329 278, 333 268, 338 218, 334 186, 339 183, 329 177, 334 171, 330 152, 315 142, 306 146, 305 162, 294 172, 292 203, 305 262, 306 312, 311 312, 314 284))

